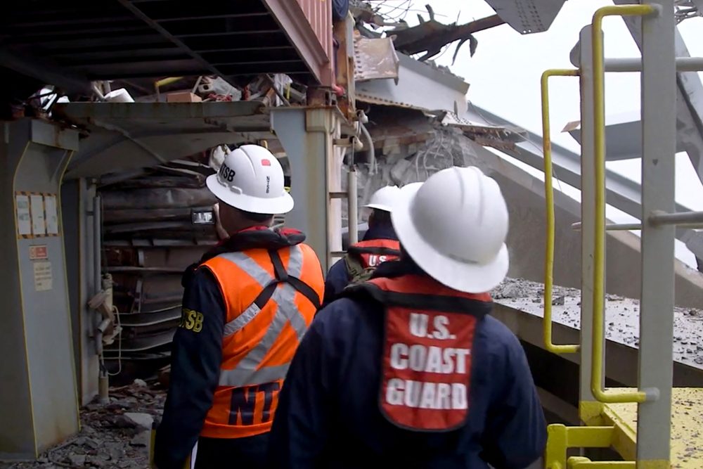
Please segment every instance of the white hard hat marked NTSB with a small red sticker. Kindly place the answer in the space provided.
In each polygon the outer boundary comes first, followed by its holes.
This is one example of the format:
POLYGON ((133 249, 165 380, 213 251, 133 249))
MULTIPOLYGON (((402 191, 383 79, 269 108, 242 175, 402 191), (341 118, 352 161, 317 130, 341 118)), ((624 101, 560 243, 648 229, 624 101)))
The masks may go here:
POLYGON ((283 169, 273 154, 258 145, 243 145, 225 155, 217 174, 207 177, 207 188, 227 205, 260 214, 282 214, 293 209, 285 191, 283 169))

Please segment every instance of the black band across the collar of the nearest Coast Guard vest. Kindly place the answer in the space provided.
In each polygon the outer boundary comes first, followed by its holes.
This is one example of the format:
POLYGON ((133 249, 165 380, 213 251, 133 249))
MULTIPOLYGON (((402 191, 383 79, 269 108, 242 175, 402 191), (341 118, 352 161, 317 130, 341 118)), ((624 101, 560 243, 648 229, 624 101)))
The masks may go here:
POLYGON ((399 293, 382 290, 373 283, 350 285, 342 292, 344 296, 367 295, 386 306, 398 306, 413 309, 428 309, 447 313, 471 314, 483 317, 491 312, 492 304, 471 298, 424 295, 420 293, 399 293))

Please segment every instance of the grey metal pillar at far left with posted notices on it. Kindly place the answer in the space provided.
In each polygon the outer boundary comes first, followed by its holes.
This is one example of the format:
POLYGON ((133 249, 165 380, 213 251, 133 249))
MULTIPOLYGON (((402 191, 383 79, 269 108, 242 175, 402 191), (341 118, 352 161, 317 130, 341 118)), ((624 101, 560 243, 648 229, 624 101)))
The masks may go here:
POLYGON ((34 458, 79 429, 60 184, 78 133, 0 126, 0 458, 34 458))

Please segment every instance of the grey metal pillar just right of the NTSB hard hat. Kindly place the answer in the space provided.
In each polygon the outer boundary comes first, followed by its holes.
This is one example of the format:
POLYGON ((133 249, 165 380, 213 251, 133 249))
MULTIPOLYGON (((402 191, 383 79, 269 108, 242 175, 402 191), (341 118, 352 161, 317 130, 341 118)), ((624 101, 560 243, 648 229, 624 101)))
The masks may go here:
POLYGON ((286 224, 303 231, 317 252, 324 271, 330 264, 329 167, 338 127, 335 108, 277 108, 271 129, 290 161, 290 193, 295 208, 286 224))

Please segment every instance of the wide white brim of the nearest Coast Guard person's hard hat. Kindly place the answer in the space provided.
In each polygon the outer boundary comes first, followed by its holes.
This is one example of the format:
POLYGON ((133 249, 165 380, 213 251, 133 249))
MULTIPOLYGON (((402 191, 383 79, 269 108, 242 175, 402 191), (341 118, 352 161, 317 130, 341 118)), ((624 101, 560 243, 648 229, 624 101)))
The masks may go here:
POLYGON ((391 212, 398 239, 415 264, 439 283, 460 292, 485 293, 496 288, 508 274, 510 266, 505 243, 487 264, 467 264, 445 255, 427 243, 413 223, 411 207, 416 194, 417 190, 401 194, 391 212))

